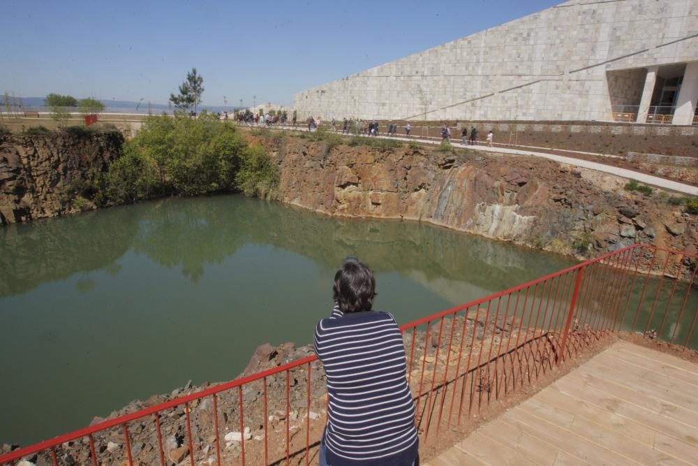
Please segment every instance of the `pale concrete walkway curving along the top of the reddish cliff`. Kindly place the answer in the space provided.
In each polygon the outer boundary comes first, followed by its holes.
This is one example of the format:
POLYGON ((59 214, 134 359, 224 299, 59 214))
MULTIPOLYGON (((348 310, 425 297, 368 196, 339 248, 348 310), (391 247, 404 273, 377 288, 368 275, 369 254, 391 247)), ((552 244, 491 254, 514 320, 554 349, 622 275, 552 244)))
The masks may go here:
MULTIPOLYGON (((276 126, 276 129, 283 129, 285 131, 306 131, 302 127, 293 128, 292 126, 276 126)), ((420 139, 420 138, 388 138, 387 136, 376 136, 383 139, 396 139, 399 141, 410 141, 414 143, 431 144, 438 145, 440 141, 431 139, 420 139)), ((523 155, 523 156, 537 156, 544 159, 554 160, 559 163, 567 163, 568 165, 578 166, 581 168, 589 168, 591 170, 600 171, 603 173, 610 173, 611 175, 616 175, 619 177, 627 178, 628 180, 637 180, 644 184, 650 184, 655 187, 660 187, 662 189, 668 189, 669 191, 676 191, 681 194, 689 194, 691 196, 698 196, 698 187, 691 186, 690 184, 681 183, 678 181, 665 180, 664 178, 646 175, 645 173, 639 173, 634 170, 628 170, 627 168, 618 168, 613 166, 604 165, 604 163, 597 163, 588 160, 574 159, 573 157, 565 157, 561 155, 548 154, 547 152, 534 152, 530 150, 519 150, 519 149, 509 149, 507 147, 487 147, 484 145, 468 145, 463 146, 461 144, 454 144, 454 147, 460 147, 463 149, 473 149, 482 152, 493 152, 496 154, 510 154, 510 155, 523 155)))

